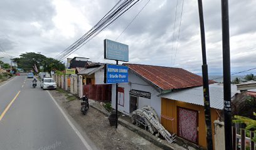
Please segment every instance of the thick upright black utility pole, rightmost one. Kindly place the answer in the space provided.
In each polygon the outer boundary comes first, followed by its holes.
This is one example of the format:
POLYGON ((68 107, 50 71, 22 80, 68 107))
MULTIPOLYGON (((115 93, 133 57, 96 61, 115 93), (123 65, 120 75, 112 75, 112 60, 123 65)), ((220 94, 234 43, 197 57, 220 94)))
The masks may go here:
POLYGON ((228 21, 228 0, 221 0, 223 86, 224 86, 224 119, 225 149, 232 149, 231 119, 231 79, 230 79, 230 40, 228 21))

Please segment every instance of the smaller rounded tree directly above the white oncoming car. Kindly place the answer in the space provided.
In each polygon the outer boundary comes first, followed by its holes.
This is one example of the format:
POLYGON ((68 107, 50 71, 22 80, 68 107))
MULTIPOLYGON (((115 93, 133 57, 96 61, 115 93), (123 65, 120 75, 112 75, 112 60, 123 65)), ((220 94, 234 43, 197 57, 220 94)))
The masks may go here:
POLYGON ((53 58, 46 58, 43 62, 43 71, 50 73, 52 70, 63 71, 65 64, 53 58))

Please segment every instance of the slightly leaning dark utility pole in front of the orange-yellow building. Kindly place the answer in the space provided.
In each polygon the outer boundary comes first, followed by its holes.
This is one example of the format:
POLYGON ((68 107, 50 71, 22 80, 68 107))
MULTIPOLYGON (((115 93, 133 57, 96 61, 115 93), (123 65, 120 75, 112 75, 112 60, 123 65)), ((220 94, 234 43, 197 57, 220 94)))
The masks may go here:
POLYGON ((205 25, 203 22, 203 4, 198 0, 198 10, 200 18, 200 31, 201 31, 201 46, 202 46, 202 73, 203 73, 203 101, 205 104, 205 124, 206 124, 206 142, 207 149, 213 149, 213 138, 211 134, 211 108, 209 98, 209 80, 208 80, 208 66, 206 61, 206 48, 205 48, 205 25))

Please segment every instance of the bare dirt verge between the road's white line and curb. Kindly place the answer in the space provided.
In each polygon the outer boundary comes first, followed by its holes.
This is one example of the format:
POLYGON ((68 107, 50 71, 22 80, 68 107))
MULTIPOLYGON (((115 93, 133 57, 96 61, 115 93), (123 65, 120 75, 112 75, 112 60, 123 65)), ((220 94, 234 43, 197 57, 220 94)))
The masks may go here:
POLYGON ((65 91, 50 91, 50 93, 60 106, 67 109, 70 116, 99 149, 161 149, 120 124, 117 129, 111 127, 107 117, 97 109, 90 107, 83 116, 80 113, 80 101, 78 99, 69 101, 65 91))

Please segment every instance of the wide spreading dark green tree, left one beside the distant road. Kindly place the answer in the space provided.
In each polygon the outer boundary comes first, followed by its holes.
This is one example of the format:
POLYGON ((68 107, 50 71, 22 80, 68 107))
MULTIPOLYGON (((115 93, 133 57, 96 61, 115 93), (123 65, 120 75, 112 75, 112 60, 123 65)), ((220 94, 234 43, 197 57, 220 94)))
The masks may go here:
POLYGON ((19 56, 20 58, 14 58, 12 61, 17 63, 18 68, 22 68, 24 71, 33 69, 34 65, 36 65, 37 68, 40 68, 43 61, 46 59, 46 56, 38 53, 25 53, 19 56))

